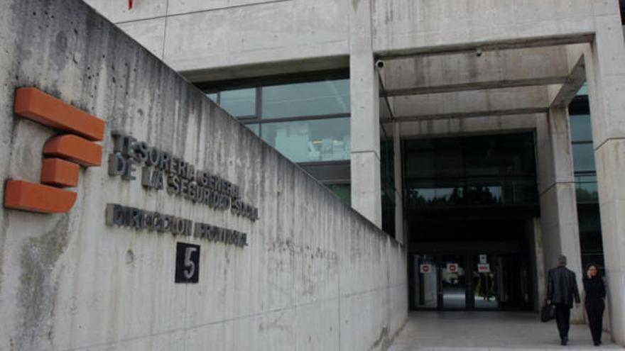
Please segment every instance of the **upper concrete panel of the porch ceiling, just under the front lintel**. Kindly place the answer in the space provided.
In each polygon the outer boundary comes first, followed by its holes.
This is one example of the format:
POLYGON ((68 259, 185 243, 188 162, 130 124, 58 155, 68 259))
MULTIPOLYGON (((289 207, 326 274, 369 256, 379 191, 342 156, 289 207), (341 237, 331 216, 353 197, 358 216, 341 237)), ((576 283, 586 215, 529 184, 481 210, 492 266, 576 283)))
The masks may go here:
POLYGON ((386 96, 562 84, 569 76, 563 47, 496 50, 479 56, 420 55, 385 63, 386 96))

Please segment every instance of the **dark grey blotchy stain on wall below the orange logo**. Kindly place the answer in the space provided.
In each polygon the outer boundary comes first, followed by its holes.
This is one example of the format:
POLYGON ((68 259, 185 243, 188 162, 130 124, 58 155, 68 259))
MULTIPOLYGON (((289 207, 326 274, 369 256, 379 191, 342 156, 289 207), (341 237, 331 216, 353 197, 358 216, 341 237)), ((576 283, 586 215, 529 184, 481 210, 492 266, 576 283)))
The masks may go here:
POLYGON ((21 328, 17 350, 40 350, 42 337, 51 341, 55 295, 53 269, 68 243, 69 216, 59 216, 54 228, 37 238, 25 241, 20 255, 18 301, 21 328))

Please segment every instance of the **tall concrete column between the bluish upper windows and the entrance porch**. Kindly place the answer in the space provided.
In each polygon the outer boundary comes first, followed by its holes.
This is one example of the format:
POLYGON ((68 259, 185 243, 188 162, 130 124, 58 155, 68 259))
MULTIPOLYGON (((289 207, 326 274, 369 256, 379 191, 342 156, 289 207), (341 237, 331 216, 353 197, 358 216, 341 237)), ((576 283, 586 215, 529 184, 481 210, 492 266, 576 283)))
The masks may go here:
POLYGON ((371 45, 371 1, 349 1, 352 207, 381 228, 379 79, 371 45))

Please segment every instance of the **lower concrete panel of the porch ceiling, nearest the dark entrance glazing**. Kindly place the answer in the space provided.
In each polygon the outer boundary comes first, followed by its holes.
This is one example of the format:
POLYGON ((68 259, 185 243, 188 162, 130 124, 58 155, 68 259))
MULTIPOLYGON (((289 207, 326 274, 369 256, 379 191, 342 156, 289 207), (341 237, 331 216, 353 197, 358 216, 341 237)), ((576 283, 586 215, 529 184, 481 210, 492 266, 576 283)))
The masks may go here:
POLYGON ((388 99, 391 99, 398 121, 541 113, 549 107, 547 87, 460 91, 388 99))

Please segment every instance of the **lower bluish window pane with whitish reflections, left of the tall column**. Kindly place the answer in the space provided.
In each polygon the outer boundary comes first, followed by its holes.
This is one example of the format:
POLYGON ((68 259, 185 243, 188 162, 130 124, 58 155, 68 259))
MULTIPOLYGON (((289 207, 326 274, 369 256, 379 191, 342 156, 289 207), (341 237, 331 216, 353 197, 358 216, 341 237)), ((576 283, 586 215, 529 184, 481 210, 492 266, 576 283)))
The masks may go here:
POLYGON ((261 137, 293 162, 349 160, 349 118, 263 123, 261 137))

